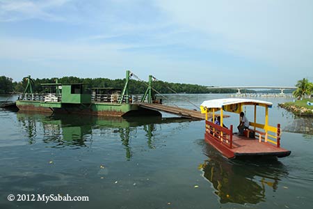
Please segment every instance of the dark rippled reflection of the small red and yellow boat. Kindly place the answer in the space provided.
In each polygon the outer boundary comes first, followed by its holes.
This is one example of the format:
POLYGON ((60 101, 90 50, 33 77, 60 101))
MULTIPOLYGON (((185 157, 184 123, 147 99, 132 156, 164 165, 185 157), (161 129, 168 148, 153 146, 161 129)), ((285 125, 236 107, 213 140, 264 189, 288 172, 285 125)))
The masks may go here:
POLYGON ((203 176, 213 185, 220 203, 257 204, 266 200, 266 190, 275 192, 287 168, 277 161, 227 160, 211 146, 205 145, 209 159, 200 164, 203 176))

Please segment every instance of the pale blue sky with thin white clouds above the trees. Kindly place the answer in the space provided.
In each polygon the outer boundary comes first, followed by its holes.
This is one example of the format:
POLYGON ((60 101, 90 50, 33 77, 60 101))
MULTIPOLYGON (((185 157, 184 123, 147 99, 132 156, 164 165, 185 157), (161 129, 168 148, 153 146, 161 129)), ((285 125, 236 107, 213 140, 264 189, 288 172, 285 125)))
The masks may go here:
POLYGON ((0 0, 0 75, 313 81, 312 0, 0 0))

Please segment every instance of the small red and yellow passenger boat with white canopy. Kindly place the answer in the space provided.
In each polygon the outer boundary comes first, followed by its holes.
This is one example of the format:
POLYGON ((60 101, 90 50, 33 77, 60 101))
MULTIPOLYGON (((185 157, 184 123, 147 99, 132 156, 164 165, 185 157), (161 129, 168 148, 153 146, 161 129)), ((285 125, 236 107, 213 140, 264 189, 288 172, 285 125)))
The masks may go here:
MULTIPOLYGON (((200 108, 205 114, 204 139, 216 150, 227 158, 251 157, 251 156, 272 156, 286 157, 290 150, 280 147, 280 124, 277 127, 268 125, 268 108, 272 107, 271 102, 261 100, 248 100, 240 98, 227 98, 207 100, 202 102, 200 108), (223 127, 223 111, 240 114, 246 105, 254 106, 254 121, 249 123, 249 128, 243 131, 243 136, 233 133, 233 126, 223 127), (257 109, 264 107, 265 123, 257 123, 257 109), (220 125, 215 124, 216 112, 220 114, 220 125), (208 113, 213 118, 209 120, 208 113)), ((239 116, 239 118, 241 118, 239 116)))

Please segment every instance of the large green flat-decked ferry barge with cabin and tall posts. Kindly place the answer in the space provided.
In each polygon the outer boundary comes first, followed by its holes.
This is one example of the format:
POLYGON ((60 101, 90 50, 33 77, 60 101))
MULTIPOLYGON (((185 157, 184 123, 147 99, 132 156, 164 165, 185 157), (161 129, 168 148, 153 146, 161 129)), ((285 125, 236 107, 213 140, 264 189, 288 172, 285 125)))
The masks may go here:
POLYGON ((63 114, 92 114, 99 116, 161 116, 159 111, 141 107, 139 102, 152 102, 152 79, 141 101, 129 96, 128 84, 131 72, 126 72, 123 89, 87 88, 85 84, 42 84, 50 93, 33 93, 33 80, 28 83, 24 93, 19 96, 16 106, 20 111, 40 111, 63 114))

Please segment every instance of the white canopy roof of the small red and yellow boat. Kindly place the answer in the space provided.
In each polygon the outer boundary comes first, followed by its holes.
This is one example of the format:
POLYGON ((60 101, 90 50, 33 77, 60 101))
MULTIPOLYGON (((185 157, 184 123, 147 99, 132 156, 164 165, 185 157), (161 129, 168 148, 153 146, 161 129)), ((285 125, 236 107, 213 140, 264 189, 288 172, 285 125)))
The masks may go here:
POLYGON ((265 104, 268 107, 273 105, 272 102, 266 102, 262 100, 248 100, 248 99, 241 99, 241 98, 226 98, 226 99, 217 99, 217 100, 206 100, 202 102, 202 107, 207 108, 222 108, 223 106, 230 105, 230 104, 240 104, 240 103, 251 103, 251 104, 265 104))

